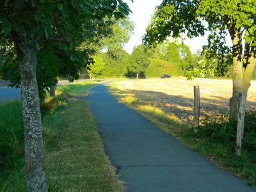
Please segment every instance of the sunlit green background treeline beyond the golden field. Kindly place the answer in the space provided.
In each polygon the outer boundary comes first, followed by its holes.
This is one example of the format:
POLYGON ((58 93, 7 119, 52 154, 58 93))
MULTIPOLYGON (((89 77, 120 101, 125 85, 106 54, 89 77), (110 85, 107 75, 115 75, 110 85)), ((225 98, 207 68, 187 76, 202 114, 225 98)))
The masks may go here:
MULTIPOLYGON (((133 33, 134 25, 128 20, 119 20, 113 25, 113 33, 101 40, 95 54, 94 70, 91 76, 109 77, 159 77, 162 74, 171 76, 193 77, 231 77, 232 59, 230 51, 220 57, 212 54, 209 47, 203 51, 190 51, 183 40, 165 40, 151 47, 138 45, 131 54, 124 50, 124 45, 133 33), (227 63, 220 68, 220 61, 227 63), (98 62, 100 61, 100 62, 98 62)), ((91 66, 92 67, 92 66, 91 66)), ((86 70, 90 76, 93 70, 86 70)), ((84 77, 84 76, 83 76, 84 77)), ((86 76, 85 76, 86 77, 86 76)), ((254 72, 256 77, 256 72, 254 72)))

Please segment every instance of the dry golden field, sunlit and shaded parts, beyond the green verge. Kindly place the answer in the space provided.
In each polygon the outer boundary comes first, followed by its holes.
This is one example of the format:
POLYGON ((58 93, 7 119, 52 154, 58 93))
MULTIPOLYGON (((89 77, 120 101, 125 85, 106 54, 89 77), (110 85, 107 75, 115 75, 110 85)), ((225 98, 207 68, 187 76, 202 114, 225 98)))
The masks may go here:
MULTIPOLYGON (((166 115, 188 123, 193 118, 193 86, 200 86, 200 115, 216 116, 228 113, 228 101, 232 95, 232 80, 199 79, 187 81, 185 77, 170 79, 141 79, 118 81, 120 99, 129 104, 148 106, 166 115)), ((256 108, 256 81, 248 91, 247 109, 256 108)))

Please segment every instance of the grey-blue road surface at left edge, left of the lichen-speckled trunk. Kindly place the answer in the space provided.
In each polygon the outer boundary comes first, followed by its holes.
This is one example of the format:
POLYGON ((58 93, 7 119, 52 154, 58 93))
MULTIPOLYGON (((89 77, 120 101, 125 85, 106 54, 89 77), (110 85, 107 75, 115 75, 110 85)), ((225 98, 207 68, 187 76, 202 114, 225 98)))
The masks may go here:
POLYGON ((4 102, 10 99, 20 99, 20 89, 0 87, 0 102, 4 102))

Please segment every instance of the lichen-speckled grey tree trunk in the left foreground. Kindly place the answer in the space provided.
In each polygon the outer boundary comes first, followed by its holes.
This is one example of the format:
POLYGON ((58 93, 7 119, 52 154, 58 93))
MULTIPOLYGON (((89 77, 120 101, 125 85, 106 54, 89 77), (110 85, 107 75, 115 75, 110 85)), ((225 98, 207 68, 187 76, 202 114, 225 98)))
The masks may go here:
POLYGON ((20 65, 20 88, 25 138, 25 161, 28 191, 47 191, 44 145, 38 86, 36 51, 28 43, 26 33, 12 35, 20 65))

